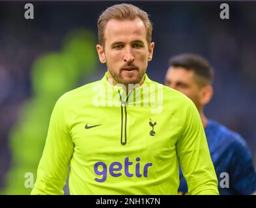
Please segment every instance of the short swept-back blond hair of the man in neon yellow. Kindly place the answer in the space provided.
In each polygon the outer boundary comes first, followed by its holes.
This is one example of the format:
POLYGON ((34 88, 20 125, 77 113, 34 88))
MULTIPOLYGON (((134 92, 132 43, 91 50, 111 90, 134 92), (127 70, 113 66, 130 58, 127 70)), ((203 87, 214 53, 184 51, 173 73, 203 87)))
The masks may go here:
POLYGON ((152 37, 152 23, 149 19, 149 14, 137 6, 126 3, 110 6, 100 14, 98 18, 98 43, 104 46, 104 31, 106 29, 107 22, 110 19, 134 20, 135 18, 140 18, 141 21, 143 21, 147 31, 147 43, 150 44, 152 37))

